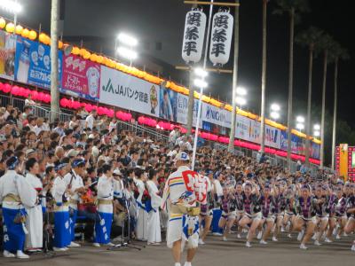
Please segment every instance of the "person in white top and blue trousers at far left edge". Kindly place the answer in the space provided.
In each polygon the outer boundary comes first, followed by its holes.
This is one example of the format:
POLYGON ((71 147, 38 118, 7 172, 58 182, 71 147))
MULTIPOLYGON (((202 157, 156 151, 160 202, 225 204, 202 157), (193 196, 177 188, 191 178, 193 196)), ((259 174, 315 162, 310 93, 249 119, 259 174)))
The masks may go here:
POLYGON ((0 203, 3 204, 4 219, 4 257, 16 256, 28 259, 28 254, 23 253, 25 244, 26 210, 24 206, 35 207, 37 193, 28 184, 20 171, 20 160, 13 156, 6 161, 8 170, 0 178, 0 203))

